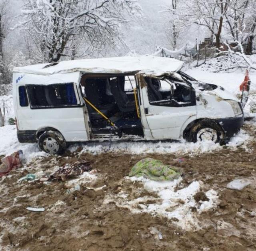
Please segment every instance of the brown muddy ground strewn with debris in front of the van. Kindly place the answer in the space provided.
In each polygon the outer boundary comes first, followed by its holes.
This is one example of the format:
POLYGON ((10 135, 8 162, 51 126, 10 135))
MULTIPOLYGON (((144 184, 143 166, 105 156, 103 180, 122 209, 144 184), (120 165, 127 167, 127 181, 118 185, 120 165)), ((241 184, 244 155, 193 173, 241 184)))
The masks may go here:
MULTIPOLYGON (((256 128, 244 128, 255 138, 256 128)), ((13 170, 0 182, 0 237, 2 250, 256 250, 256 142, 236 150, 223 150, 197 156, 180 154, 130 155, 104 153, 81 154, 90 160, 98 178, 81 185, 80 191, 68 193, 66 182, 23 182, 28 173, 47 173, 78 158, 78 152, 66 156, 41 158, 27 168, 13 170), (139 183, 124 182, 131 167, 145 157, 162 160, 182 170, 182 186, 194 180, 218 192, 216 209, 197 217, 201 229, 186 231, 173 220, 148 213, 132 214, 116 204, 104 204, 107 194, 138 187, 136 196, 147 193, 139 183), (177 158, 184 158, 181 163, 177 158), (234 178, 249 178, 252 183, 242 191, 230 190, 226 184, 234 178), (104 188, 94 191, 90 188, 104 188), (36 213, 27 206, 43 207, 36 213), (159 238, 152 228, 162 233, 159 238)), ((135 195, 134 195, 135 196, 135 195)), ((154 194, 151 194, 154 196, 154 194)), ((148 202, 150 203, 150 202, 148 202)), ((191 209, 193 210, 193 209, 191 209)))

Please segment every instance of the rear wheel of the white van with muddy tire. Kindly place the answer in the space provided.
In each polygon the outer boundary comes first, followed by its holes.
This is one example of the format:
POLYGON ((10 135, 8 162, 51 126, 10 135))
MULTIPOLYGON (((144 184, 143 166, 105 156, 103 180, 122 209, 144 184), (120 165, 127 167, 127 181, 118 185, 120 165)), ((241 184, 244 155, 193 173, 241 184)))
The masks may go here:
POLYGON ((67 148, 67 143, 60 132, 44 132, 38 139, 39 148, 49 154, 62 154, 67 148))

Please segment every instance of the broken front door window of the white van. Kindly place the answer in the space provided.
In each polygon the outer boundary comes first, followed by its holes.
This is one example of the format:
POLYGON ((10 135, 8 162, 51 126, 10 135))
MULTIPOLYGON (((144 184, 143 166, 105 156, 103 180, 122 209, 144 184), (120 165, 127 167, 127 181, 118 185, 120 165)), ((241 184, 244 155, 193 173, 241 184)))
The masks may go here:
POLYGON ((184 107, 196 105, 195 92, 192 87, 172 79, 145 77, 150 105, 167 107, 184 107))

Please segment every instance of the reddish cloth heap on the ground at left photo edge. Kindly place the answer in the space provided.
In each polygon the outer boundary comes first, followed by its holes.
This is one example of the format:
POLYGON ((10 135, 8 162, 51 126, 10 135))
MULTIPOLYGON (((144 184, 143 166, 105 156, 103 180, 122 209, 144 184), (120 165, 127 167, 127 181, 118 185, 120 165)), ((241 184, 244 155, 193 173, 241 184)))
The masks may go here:
POLYGON ((14 168, 21 167, 20 155, 22 151, 14 152, 12 155, 2 158, 0 160, 0 177, 8 175, 14 168))

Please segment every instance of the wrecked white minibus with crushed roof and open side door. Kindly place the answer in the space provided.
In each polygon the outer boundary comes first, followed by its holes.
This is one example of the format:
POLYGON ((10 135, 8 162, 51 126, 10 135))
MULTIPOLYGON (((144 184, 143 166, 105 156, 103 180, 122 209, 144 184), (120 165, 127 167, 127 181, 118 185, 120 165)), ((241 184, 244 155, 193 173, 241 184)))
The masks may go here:
POLYGON ((141 56, 17 67, 18 140, 57 154, 70 142, 110 137, 227 142, 244 123, 238 99, 186 75, 182 65, 141 56))

